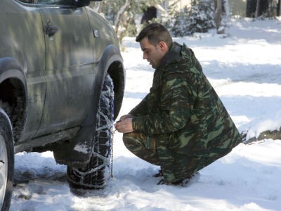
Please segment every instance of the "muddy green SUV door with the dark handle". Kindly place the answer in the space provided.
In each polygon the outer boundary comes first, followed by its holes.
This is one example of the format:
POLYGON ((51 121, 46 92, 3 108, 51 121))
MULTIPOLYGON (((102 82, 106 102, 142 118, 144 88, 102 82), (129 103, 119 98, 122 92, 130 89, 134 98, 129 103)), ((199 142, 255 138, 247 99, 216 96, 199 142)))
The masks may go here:
POLYGON ((81 124, 92 96, 93 32, 86 9, 61 2, 67 1, 38 1, 46 43, 46 99, 37 136, 81 124))

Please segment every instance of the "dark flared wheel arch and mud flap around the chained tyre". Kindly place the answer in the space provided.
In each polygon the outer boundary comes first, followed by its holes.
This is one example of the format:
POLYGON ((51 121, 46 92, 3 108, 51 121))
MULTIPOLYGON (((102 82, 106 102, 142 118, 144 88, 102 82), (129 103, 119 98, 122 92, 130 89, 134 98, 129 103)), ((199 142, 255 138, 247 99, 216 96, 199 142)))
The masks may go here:
POLYGON ((91 158, 91 150, 81 153, 75 151, 74 148, 80 143, 83 143, 87 149, 93 148, 93 136, 96 133, 96 113, 98 111, 100 94, 107 72, 110 74, 110 77, 112 77, 113 85, 116 86, 116 88, 114 87, 116 94, 114 102, 116 103, 116 119, 122 105, 125 86, 125 71, 123 67, 123 58, 119 49, 115 45, 110 45, 107 46, 98 63, 98 70, 93 82, 93 90, 95 90, 95 92, 91 98, 91 109, 81 125, 79 133, 67 144, 60 144, 53 148, 53 154, 58 163, 77 168, 84 167, 89 162, 91 158))

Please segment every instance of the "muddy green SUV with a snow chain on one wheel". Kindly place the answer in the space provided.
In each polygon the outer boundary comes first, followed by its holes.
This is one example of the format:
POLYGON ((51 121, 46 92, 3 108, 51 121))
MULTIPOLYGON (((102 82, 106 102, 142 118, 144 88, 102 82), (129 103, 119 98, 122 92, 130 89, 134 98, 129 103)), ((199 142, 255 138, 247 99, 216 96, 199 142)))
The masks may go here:
POLYGON ((20 151, 53 151, 71 188, 109 177, 125 72, 115 31, 89 3, 0 0, 1 210, 20 151))

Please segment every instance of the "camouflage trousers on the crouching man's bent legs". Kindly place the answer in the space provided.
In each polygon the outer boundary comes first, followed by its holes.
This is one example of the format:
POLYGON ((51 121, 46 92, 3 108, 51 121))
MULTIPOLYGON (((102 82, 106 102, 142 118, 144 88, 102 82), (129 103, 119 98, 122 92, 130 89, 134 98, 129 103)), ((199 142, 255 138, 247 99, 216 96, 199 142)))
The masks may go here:
POLYGON ((163 146, 157 146, 157 143, 162 145, 161 143, 169 141, 169 138, 165 136, 151 137, 133 132, 124 134, 123 141, 126 148, 138 156, 138 158, 150 162, 153 165, 159 165, 164 179, 169 182, 177 182, 190 178, 192 174, 221 157, 221 155, 214 153, 209 154, 209 156, 189 156, 184 153, 171 151, 169 148, 163 146))

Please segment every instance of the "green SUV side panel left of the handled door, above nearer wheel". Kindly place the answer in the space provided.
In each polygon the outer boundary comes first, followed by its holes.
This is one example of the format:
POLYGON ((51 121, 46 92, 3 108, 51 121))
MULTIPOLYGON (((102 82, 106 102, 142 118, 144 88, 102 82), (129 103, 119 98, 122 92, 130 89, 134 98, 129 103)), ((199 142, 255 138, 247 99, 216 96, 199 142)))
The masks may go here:
POLYGON ((27 82, 25 127, 20 140, 24 141, 37 132, 44 109, 46 51, 42 20, 30 1, 1 0, 1 5, 1 27, 5 32, 0 34, 0 56, 15 59, 27 82))

